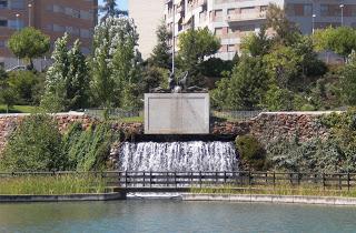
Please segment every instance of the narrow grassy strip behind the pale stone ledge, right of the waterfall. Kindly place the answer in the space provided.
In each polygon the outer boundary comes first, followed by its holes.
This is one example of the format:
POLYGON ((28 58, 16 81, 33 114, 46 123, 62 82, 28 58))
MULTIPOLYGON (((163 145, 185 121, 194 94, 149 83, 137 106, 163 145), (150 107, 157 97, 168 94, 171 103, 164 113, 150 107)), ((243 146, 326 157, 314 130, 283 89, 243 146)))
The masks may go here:
POLYGON ((337 188, 323 188, 318 185, 276 185, 276 186, 217 186, 191 188, 196 194, 265 194, 265 195, 314 195, 314 196, 345 196, 356 197, 356 188, 350 190, 337 188))

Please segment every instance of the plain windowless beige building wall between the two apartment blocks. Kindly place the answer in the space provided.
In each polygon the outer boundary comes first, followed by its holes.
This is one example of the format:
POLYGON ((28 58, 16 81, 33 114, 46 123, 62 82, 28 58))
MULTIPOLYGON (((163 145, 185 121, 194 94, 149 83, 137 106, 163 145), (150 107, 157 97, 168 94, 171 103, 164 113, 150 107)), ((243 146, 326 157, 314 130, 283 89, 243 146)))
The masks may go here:
POLYGON ((139 33, 139 51, 147 59, 157 43, 156 30, 164 20, 166 0, 129 0, 129 16, 139 33))

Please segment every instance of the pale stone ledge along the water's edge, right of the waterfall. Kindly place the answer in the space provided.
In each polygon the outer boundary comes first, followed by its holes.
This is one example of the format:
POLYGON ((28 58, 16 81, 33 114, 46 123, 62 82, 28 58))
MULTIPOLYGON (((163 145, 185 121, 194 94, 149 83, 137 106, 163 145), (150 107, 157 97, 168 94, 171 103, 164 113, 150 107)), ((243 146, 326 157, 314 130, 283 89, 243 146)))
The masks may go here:
POLYGON ((356 197, 255 194, 181 194, 182 201, 267 202, 323 205, 356 205, 356 197))

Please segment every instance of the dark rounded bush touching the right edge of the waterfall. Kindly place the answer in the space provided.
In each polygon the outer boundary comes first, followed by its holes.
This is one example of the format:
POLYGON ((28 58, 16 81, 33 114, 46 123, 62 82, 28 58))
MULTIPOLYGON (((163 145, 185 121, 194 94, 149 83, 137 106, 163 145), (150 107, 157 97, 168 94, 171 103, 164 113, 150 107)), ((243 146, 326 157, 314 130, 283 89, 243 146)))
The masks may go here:
POLYGON ((266 169, 266 152, 256 138, 253 135, 238 136, 236 139, 236 146, 243 164, 246 164, 248 169, 266 169))

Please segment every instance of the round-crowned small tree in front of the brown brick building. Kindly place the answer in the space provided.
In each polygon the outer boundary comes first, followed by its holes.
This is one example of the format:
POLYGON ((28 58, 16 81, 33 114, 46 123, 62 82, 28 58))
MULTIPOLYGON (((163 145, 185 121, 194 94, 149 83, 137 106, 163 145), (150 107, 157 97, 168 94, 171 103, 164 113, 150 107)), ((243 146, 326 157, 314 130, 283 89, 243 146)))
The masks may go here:
POLYGON ((24 28, 11 36, 9 48, 16 57, 28 60, 33 69, 33 59, 49 51, 50 38, 34 28, 24 28))

